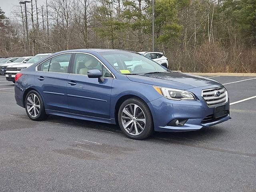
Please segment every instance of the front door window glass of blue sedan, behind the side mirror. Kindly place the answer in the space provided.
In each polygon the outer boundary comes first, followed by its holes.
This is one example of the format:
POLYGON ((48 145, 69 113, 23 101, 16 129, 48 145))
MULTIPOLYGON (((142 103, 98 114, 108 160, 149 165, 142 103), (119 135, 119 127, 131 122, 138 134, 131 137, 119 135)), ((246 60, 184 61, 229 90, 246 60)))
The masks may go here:
POLYGON ((92 69, 100 70, 103 77, 112 77, 111 73, 94 56, 82 53, 75 55, 72 73, 87 75, 87 72, 92 69))

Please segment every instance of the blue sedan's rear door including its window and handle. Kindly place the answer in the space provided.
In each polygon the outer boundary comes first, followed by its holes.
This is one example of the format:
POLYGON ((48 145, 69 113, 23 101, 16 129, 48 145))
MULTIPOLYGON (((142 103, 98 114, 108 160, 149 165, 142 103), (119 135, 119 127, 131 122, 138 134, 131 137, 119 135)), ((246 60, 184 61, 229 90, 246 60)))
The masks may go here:
POLYGON ((47 110, 68 112, 67 78, 71 56, 72 53, 54 56, 37 68, 34 81, 47 110))

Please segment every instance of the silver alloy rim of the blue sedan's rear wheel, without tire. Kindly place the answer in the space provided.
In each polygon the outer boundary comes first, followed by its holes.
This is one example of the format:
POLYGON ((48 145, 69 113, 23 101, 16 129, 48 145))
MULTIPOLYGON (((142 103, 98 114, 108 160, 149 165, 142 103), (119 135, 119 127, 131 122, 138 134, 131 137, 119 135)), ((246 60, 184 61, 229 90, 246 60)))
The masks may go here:
POLYGON ((26 107, 31 117, 35 118, 40 112, 40 101, 36 94, 30 94, 27 98, 26 107))

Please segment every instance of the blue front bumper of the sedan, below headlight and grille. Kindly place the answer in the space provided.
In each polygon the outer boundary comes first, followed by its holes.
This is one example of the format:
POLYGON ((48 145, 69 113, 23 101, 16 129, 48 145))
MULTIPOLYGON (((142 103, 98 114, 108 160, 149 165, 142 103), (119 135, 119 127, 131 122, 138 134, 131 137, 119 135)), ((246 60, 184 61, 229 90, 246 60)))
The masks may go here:
POLYGON ((210 127, 227 121, 230 119, 229 100, 223 105, 225 105, 226 114, 215 119, 209 118, 213 116, 215 107, 208 107, 204 100, 176 101, 161 97, 148 103, 152 112, 155 131, 160 132, 200 130, 203 127, 210 127), (183 126, 168 126, 168 123, 174 119, 188 120, 183 126))

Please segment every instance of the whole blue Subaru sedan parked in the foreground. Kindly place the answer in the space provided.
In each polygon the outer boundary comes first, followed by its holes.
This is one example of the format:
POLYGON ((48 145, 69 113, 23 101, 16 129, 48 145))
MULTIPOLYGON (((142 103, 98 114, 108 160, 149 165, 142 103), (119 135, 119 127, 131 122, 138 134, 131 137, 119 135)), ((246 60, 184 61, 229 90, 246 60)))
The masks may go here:
POLYGON ((30 119, 59 115, 119 124, 132 139, 230 119, 228 92, 219 82, 172 72, 124 50, 57 52, 21 70, 15 80, 16 102, 30 119))

